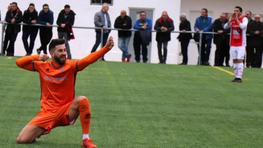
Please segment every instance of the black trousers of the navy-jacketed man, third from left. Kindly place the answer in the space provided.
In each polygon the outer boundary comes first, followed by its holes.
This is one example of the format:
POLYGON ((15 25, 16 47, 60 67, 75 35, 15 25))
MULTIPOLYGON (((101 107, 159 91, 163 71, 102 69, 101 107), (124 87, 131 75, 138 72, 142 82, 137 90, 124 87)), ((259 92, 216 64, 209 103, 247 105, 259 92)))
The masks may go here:
POLYGON ((39 36, 41 46, 39 47, 39 51, 44 51, 44 54, 47 54, 47 45, 51 41, 53 33, 52 28, 48 27, 40 27, 39 28, 39 36))

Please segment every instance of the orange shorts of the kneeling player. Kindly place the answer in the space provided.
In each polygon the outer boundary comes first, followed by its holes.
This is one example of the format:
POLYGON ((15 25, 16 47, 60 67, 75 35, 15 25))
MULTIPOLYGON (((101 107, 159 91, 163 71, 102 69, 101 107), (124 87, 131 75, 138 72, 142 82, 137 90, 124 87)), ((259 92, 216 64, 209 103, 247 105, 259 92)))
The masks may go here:
POLYGON ((46 129, 44 134, 48 134, 51 129, 57 126, 72 125, 77 120, 69 121, 69 110, 72 102, 65 104, 52 112, 46 112, 43 108, 40 109, 39 113, 33 118, 27 125, 35 125, 46 129))

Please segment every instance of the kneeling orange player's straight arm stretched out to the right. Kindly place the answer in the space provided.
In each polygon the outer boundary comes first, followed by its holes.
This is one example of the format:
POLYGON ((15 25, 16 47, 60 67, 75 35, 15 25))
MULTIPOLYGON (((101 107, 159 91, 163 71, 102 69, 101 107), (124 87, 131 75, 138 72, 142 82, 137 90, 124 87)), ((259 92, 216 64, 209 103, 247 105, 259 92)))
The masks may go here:
POLYGON ((103 48, 101 48, 100 50, 98 50, 96 52, 89 54, 87 57, 84 57, 83 59, 80 59, 77 62, 77 68, 78 68, 77 70, 82 71, 88 65, 99 60, 104 54, 106 54, 108 51, 110 51, 113 46, 114 46, 113 37, 110 37, 108 39, 106 45, 103 48))

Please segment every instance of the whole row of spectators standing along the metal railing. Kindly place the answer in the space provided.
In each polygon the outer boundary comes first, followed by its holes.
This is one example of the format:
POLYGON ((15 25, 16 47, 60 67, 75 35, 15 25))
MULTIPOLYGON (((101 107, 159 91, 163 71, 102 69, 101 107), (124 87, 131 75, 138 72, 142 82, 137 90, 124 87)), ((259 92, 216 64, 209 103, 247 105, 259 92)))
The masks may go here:
MULTIPOLYGON (((52 39, 52 25, 54 21, 53 11, 50 10, 48 4, 43 4, 42 10, 38 13, 35 9, 35 5, 30 3, 28 9, 22 13, 16 2, 11 3, 7 8, 5 21, 9 24, 5 28, 3 54, 6 56, 14 56, 14 43, 16 41, 18 33, 21 31, 21 25, 16 25, 21 22, 28 24, 22 27, 22 41, 26 51, 26 56, 31 55, 34 42, 39 30, 39 37, 41 46, 36 49, 37 53, 40 54, 42 51, 47 54, 47 45, 52 39), (45 26, 36 26, 31 24, 41 24, 45 26), (30 38, 30 42, 27 40, 30 38)), ((111 20, 108 14, 109 5, 104 3, 102 9, 94 15, 95 27, 103 29, 95 29, 96 41, 91 50, 95 52, 100 44, 103 46, 106 44, 108 36, 111 32, 111 20), (101 36, 103 35, 103 42, 101 43, 101 36)), ((246 47, 246 67, 247 68, 261 68, 262 63, 262 51, 263 51, 263 23, 260 21, 261 16, 256 14, 254 20, 252 19, 252 12, 246 11, 243 14, 248 19, 247 25, 247 47, 246 47)), ((74 25, 76 14, 71 10, 69 5, 65 5, 64 9, 60 11, 56 24, 58 38, 65 40, 65 46, 67 51, 67 59, 71 59, 71 51, 68 41, 74 39, 74 33, 72 27, 74 25)), ((1 16, 0 16, 1 19, 1 16)), ((201 9, 201 15, 196 18, 194 25, 194 35, 187 33, 191 31, 191 24, 187 20, 185 13, 180 15, 179 36, 177 39, 181 44, 181 53, 183 55, 183 61, 181 65, 187 65, 188 62, 188 45, 191 39, 195 42, 201 40, 201 49, 197 45, 199 55, 201 56, 201 65, 210 65, 210 51, 212 39, 216 45, 214 66, 230 66, 230 28, 224 29, 224 25, 230 20, 230 14, 222 13, 218 19, 213 21, 211 16, 208 16, 208 10, 206 8, 201 9), (202 38, 200 39, 199 33, 203 32, 202 38), (206 32, 215 32, 217 34, 211 34, 206 32)), ((132 54, 128 51, 128 45, 132 36, 130 29, 136 29, 133 39, 134 58, 136 62, 141 61, 146 63, 148 61, 148 49, 147 46, 150 44, 152 39, 152 20, 147 17, 146 12, 140 12, 140 19, 136 22, 132 22, 130 16, 126 14, 125 10, 120 12, 114 21, 114 28, 125 29, 118 30, 118 47, 123 52, 121 60, 122 62, 129 62, 132 54), (133 27, 132 27, 133 26, 133 27), (142 56, 141 56, 142 55, 142 56)), ((160 64, 166 64, 167 59, 167 47, 168 42, 171 40, 171 31, 175 30, 174 22, 169 17, 168 12, 163 11, 160 18, 155 21, 154 30, 156 33, 156 41, 158 48, 158 57, 160 64)), ((102 60, 105 61, 104 57, 102 60)))

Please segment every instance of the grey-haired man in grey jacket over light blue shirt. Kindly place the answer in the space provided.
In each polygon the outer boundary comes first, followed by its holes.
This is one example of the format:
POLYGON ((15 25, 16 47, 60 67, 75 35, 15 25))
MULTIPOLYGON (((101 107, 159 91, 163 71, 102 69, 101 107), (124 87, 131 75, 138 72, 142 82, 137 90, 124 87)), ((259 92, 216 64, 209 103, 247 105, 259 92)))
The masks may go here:
MULTIPOLYGON (((111 20, 108 14, 108 10, 109 10, 109 5, 107 3, 104 3, 102 5, 102 9, 99 12, 95 13, 94 16, 95 27, 103 28, 103 43, 102 43, 103 46, 106 45, 109 33, 111 32, 111 30, 108 30, 108 28, 111 28, 111 20)), ((91 50, 91 53, 95 52, 101 43, 100 42, 101 29, 95 29, 95 31, 96 31, 96 42, 91 50)), ((105 61, 104 56, 102 57, 102 60, 105 61)))

